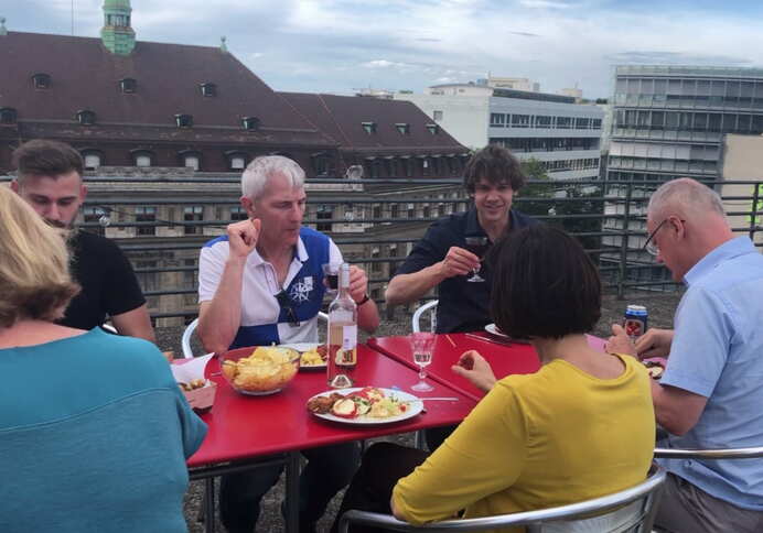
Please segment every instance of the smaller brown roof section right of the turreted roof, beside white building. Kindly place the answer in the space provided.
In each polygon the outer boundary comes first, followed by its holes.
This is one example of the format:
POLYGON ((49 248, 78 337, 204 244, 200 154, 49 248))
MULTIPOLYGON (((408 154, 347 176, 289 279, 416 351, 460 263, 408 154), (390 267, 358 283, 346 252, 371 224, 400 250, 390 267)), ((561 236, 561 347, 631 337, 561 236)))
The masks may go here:
POLYGON ((432 134, 427 124, 432 120, 416 105, 402 100, 387 100, 357 96, 279 93, 312 123, 331 135, 341 150, 389 153, 466 153, 469 150, 439 128, 432 134), (364 122, 376 124, 375 133, 367 133, 364 122), (408 133, 396 124, 409 124, 408 133))

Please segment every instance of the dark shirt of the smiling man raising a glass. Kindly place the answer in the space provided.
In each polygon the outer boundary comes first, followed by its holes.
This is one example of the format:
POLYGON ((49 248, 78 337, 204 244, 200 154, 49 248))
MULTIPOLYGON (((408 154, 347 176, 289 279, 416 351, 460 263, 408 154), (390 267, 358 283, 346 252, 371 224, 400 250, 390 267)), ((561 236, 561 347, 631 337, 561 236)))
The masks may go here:
MULTIPOLYGON (((509 210, 512 231, 537 220, 509 210)), ((476 208, 456 213, 432 224, 423 238, 416 243, 396 274, 411 274, 442 261, 451 247, 465 248, 465 237, 486 237, 480 226, 476 208)), ((480 275, 484 283, 471 283, 466 275, 454 275, 438 285, 437 333, 476 331, 493 322, 490 317, 491 271, 482 263, 480 275)))

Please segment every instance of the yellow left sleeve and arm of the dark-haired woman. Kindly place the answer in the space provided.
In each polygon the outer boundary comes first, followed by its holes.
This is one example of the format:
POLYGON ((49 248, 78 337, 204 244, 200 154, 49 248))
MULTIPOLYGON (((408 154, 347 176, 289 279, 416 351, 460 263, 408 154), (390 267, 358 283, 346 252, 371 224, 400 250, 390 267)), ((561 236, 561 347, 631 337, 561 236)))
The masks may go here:
POLYGON ((511 487, 525 465, 527 426, 508 387, 496 387, 413 474, 393 490, 399 520, 416 525, 452 516, 511 487))

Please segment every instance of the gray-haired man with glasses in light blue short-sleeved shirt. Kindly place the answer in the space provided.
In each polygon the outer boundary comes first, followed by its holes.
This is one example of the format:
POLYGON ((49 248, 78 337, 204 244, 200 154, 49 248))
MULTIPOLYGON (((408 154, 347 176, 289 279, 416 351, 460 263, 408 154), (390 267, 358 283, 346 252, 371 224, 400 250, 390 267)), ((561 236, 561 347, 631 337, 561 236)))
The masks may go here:
MULTIPOLYGON (((763 445, 763 255, 734 237, 716 192, 689 178, 649 200, 646 250, 687 285, 674 330, 635 346, 612 326, 608 351, 668 357, 653 382, 657 422, 671 448, 763 445)), ((763 463, 660 460, 669 471, 655 525, 674 533, 763 531, 763 463)))

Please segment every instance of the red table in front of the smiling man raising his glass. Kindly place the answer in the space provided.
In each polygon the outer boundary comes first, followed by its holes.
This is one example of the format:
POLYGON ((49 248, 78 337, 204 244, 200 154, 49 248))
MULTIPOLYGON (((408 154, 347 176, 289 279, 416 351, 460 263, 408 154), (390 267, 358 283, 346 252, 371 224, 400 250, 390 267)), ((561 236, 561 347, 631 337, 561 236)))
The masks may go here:
MULTIPOLYGON (((519 342, 511 345, 491 342, 490 338, 488 334, 482 333, 438 335, 432 362, 427 367, 429 381, 436 387, 448 385, 479 401, 484 393, 451 370, 459 357, 468 350, 479 351, 491 363, 498 379, 515 373, 533 373, 540 368, 540 361, 533 346, 519 342), (451 345, 448 338, 455 346, 451 345)), ((591 347, 603 351, 602 339, 589 335, 588 341, 591 347)), ((418 366, 413 362, 409 337, 379 337, 369 339, 368 346, 418 371, 418 366)))

